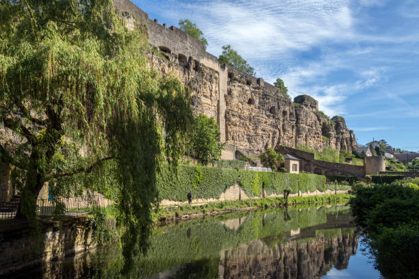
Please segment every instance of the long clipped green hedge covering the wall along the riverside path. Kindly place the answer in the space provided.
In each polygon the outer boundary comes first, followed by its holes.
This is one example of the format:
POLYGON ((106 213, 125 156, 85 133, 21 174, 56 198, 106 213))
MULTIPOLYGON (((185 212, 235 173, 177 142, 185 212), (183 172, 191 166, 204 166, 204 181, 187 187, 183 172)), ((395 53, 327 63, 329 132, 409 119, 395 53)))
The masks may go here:
POLYGON ((249 197, 261 196, 262 189, 266 194, 282 195, 284 189, 292 194, 298 191, 325 191, 326 177, 317 174, 284 174, 279 172, 255 172, 228 168, 207 168, 202 166, 181 165, 177 173, 167 165, 157 177, 157 189, 160 199, 184 201, 189 191, 192 198, 220 198, 232 185, 239 182, 249 197))

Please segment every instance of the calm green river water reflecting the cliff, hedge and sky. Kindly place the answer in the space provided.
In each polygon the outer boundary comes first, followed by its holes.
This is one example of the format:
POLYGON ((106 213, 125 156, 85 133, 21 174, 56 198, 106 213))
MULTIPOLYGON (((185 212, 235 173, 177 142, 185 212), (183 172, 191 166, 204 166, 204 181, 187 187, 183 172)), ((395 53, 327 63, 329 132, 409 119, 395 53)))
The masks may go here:
MULTIPOLYGON (((160 226, 135 278, 380 278, 343 205, 234 213, 160 226)), ((114 278, 108 246, 14 278, 114 278)))

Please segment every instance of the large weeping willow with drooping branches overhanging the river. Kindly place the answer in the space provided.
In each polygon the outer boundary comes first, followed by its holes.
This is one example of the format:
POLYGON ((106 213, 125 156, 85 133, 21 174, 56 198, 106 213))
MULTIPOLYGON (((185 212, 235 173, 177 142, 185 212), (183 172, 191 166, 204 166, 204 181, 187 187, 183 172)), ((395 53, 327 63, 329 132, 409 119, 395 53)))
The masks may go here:
POLYGON ((35 224, 45 185, 112 189, 123 252, 143 251, 160 164, 192 120, 181 83, 149 69, 147 32, 112 1, 8 0, 0 14, 0 161, 19 210, 35 224))

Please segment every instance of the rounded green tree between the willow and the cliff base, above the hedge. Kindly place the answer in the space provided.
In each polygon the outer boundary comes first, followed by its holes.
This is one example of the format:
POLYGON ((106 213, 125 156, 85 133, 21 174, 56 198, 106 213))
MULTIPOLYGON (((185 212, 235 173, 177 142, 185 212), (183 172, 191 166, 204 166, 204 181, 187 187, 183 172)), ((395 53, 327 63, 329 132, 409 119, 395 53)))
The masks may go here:
POLYGON ((220 129, 214 118, 200 114, 190 137, 190 148, 194 157, 206 165, 221 157, 224 144, 220 143, 220 129))

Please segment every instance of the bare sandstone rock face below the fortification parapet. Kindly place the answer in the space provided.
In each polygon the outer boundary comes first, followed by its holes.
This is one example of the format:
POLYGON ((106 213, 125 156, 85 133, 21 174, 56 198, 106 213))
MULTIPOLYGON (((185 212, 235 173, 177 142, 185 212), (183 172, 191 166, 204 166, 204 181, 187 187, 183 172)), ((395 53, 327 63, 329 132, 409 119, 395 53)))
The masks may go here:
POLYGON ((344 119, 329 120, 310 96, 297 96, 293 103, 269 83, 227 66, 227 94, 220 100, 218 71, 174 53, 151 53, 149 59, 153 68, 176 75, 186 85, 194 114, 205 114, 219 123, 220 101, 225 102, 225 126, 220 129, 225 129, 227 144, 254 152, 277 145, 355 148, 355 135, 344 119))

